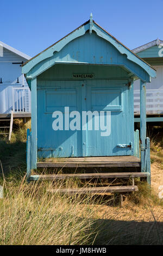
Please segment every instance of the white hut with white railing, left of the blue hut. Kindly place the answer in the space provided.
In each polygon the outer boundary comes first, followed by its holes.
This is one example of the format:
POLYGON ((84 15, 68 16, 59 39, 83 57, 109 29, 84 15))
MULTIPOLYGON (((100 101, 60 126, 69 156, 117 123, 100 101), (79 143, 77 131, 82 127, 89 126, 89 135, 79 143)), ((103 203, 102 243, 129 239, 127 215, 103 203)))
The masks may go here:
POLYGON ((30 57, 0 41, 0 118, 30 116, 30 90, 21 65, 30 57))

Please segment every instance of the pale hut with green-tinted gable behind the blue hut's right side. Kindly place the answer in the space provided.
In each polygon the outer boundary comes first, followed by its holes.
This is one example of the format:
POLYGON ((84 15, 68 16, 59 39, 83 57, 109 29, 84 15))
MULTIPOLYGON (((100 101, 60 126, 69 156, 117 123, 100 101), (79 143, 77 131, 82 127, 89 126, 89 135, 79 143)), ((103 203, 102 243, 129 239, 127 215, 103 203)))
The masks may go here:
MULTIPOLYGON (((156 39, 133 50, 156 70, 156 78, 147 83, 147 122, 163 121, 163 41, 156 39)), ((140 118, 140 81, 134 82, 134 113, 135 122, 140 118)), ((157 123, 158 124, 158 123, 157 123)))

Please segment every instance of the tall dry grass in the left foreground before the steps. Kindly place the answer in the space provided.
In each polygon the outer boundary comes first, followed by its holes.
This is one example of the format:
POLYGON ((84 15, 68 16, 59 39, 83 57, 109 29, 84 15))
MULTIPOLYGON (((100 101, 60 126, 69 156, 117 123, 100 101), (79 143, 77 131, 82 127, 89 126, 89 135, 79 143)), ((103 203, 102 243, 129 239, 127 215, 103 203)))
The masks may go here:
MULTIPOLYGON (((3 182, 0 200, 0 245, 85 245, 92 244, 95 210, 91 196, 61 196, 50 193, 52 182, 25 178, 17 186, 3 182)), ((58 186, 58 189, 61 184, 58 186)), ((97 211, 97 209, 96 209, 97 211)))

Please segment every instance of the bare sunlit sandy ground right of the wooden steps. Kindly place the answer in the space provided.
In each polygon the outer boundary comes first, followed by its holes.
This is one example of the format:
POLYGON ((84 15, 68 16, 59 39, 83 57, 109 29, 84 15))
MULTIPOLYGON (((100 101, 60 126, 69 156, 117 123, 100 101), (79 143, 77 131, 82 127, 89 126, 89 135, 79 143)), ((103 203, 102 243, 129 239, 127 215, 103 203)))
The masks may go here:
MULTIPOLYGON (((151 164, 151 186, 156 196, 159 197, 159 187, 162 185, 163 200, 163 169, 159 164, 151 164)), ((161 200, 161 199, 160 199, 161 200)), ((97 216, 103 219, 118 221, 137 221, 137 222, 163 222, 163 207, 153 205, 151 202, 136 205, 130 200, 124 200, 122 208, 120 206, 103 205, 98 209, 97 216)))

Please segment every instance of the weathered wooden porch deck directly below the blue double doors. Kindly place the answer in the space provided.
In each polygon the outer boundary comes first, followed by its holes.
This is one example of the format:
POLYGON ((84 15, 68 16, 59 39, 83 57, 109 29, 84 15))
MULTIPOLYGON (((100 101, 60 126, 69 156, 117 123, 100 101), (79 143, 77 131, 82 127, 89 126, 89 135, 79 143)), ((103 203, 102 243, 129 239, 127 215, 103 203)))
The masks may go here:
POLYGON ((140 167, 141 162, 135 156, 97 156, 49 158, 37 162, 37 167, 140 167))

